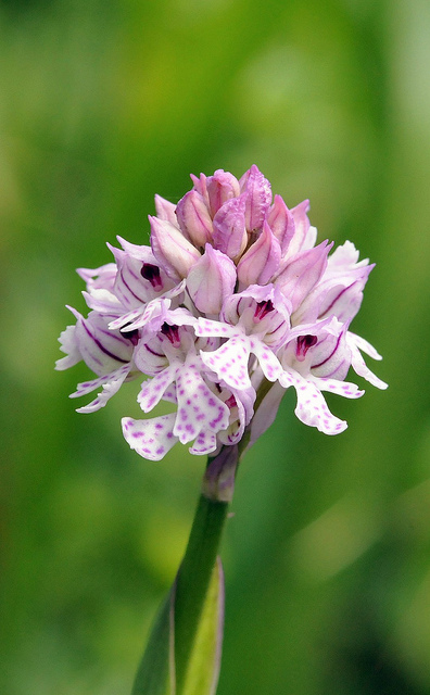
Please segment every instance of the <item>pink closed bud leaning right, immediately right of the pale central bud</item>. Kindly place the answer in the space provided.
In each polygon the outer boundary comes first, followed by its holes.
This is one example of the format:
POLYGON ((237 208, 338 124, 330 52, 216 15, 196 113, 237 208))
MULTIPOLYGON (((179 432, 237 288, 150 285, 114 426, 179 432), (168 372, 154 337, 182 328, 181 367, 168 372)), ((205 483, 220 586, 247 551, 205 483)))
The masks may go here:
POLYGON ((278 270, 281 257, 279 241, 265 222, 258 239, 248 249, 238 264, 240 288, 266 285, 278 270))

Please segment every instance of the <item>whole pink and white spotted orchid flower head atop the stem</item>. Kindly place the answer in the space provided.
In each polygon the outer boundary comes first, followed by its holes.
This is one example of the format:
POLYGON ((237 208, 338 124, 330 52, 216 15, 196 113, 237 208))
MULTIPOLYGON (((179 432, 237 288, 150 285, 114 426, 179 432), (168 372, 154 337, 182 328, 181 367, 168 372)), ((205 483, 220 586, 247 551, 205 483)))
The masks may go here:
POLYGON ((118 238, 114 263, 79 269, 85 318, 60 337, 66 369, 84 361, 97 375, 74 396, 99 390, 80 413, 104 406, 124 381, 146 375, 138 402, 150 413, 123 418, 129 445, 159 460, 176 442, 192 454, 250 445, 273 422, 286 389, 295 415, 326 434, 346 422, 330 413, 324 391, 355 399, 344 381, 352 366, 374 386, 387 384, 362 352, 380 355, 349 328, 374 267, 346 241, 331 255, 315 245, 308 201, 288 208, 253 165, 241 179, 219 169, 191 177, 175 205, 156 195, 151 245, 118 238))

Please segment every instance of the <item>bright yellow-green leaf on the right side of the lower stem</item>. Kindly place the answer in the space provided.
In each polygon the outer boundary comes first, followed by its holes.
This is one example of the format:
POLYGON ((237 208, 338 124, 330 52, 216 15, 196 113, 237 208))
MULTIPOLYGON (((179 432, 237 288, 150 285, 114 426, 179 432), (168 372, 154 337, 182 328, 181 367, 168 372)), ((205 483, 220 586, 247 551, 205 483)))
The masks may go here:
POLYGON ((215 695, 218 683, 224 631, 224 572, 217 558, 178 695, 215 695))

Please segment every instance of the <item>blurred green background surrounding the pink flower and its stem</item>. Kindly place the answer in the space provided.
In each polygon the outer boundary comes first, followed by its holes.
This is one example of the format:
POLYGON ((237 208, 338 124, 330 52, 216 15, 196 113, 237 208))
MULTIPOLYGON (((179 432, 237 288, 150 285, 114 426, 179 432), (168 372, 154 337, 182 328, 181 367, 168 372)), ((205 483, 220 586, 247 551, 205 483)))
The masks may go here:
POLYGON ((253 163, 377 262, 353 329, 390 389, 334 396, 338 438, 287 394, 248 455, 218 695, 430 693, 429 37, 426 0, 1 1, 2 694, 129 694, 204 467, 128 450, 136 383, 74 412, 74 269, 253 163))

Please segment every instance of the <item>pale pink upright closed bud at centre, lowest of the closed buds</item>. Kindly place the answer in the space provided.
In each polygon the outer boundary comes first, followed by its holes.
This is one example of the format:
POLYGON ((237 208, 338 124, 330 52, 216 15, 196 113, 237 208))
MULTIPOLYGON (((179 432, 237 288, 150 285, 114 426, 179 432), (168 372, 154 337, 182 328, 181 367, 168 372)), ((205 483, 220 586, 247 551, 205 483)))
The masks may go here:
POLYGON ((204 314, 218 314, 226 296, 232 294, 235 285, 233 262, 206 243, 204 254, 187 278, 187 289, 198 309, 204 314))

